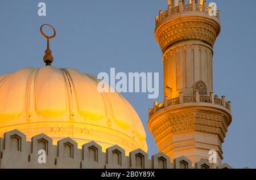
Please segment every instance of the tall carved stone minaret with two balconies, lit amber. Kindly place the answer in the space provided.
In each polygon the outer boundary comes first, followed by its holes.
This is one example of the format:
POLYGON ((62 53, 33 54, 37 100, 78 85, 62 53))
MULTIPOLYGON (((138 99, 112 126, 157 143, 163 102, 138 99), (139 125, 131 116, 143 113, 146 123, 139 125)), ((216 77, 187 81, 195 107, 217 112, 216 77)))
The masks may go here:
POLYGON ((159 151, 192 163, 217 152, 232 121, 231 103, 213 93, 213 46, 220 12, 207 1, 168 0, 156 16, 155 38, 163 52, 164 101, 149 110, 148 128, 159 151))

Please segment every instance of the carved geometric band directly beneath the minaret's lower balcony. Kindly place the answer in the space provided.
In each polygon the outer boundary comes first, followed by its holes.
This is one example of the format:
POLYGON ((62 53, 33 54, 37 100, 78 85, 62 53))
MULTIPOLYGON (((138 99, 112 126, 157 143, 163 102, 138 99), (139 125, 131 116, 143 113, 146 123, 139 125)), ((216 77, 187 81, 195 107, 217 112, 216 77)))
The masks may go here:
POLYGON ((224 142, 228 131, 228 125, 222 115, 199 111, 170 114, 151 128, 156 142, 161 142, 171 134, 188 131, 217 134, 221 142, 224 142))

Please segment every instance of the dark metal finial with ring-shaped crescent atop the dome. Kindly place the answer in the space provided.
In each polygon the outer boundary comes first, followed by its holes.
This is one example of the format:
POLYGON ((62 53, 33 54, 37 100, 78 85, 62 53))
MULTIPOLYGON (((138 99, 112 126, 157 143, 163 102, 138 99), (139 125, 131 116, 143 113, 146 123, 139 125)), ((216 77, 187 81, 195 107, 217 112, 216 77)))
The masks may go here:
POLYGON ((51 63, 53 62, 53 56, 52 56, 52 51, 51 49, 49 49, 49 39, 51 38, 54 38, 56 36, 56 31, 55 29, 53 28, 52 25, 49 25, 49 24, 43 24, 41 27, 40 27, 40 32, 42 34, 43 37, 47 38, 47 49, 46 49, 46 55, 44 55, 44 62, 46 63, 46 66, 51 66, 51 63), (44 26, 48 26, 50 28, 52 28, 53 30, 53 35, 52 36, 47 36, 44 32, 43 32, 43 27, 44 26))

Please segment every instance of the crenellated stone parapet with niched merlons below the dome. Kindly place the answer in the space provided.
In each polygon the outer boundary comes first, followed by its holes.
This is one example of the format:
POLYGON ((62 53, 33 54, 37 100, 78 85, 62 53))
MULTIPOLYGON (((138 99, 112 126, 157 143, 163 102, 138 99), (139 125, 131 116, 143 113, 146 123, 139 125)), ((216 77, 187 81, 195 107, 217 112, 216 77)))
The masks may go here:
MULTIPOLYGON (((32 137, 31 142, 26 141, 26 136, 18 130, 6 132, 0 139, 0 168, 106 168, 106 169, 202 169, 213 168, 206 160, 196 162, 192 166, 187 157, 175 158, 173 163, 164 153, 158 153, 148 159, 146 152, 141 149, 131 151, 125 155, 118 145, 114 145, 102 152, 102 148, 95 142, 77 148, 77 143, 71 138, 59 140, 57 145, 52 144, 52 139, 44 134, 32 137), (40 151, 46 152, 46 163, 39 163, 40 151), (39 154, 38 154, 39 153, 39 154)), ((219 168, 232 168, 222 164, 219 168)))

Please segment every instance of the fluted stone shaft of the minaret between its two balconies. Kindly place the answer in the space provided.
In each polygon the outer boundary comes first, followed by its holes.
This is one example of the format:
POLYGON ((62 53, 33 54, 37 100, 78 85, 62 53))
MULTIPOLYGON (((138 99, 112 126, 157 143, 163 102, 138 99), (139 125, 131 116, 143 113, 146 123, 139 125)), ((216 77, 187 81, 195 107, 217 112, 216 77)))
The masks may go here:
POLYGON ((207 94, 213 91, 212 48, 204 42, 186 41, 167 49, 163 55, 164 88, 172 89, 172 98, 179 92, 194 95, 193 86, 203 81, 207 94))

